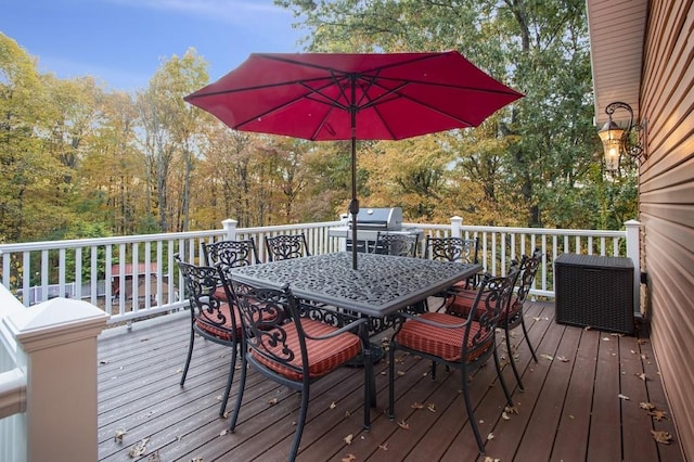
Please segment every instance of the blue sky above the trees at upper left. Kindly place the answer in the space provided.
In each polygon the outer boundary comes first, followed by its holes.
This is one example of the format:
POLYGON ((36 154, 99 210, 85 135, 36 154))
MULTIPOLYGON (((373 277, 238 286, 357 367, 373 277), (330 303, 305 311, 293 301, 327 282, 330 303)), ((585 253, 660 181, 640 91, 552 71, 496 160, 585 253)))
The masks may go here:
POLYGON ((189 48, 214 81, 249 53, 297 52, 305 31, 272 0, 2 0, 0 31, 41 73, 92 76, 110 90, 144 89, 163 61, 189 48))

